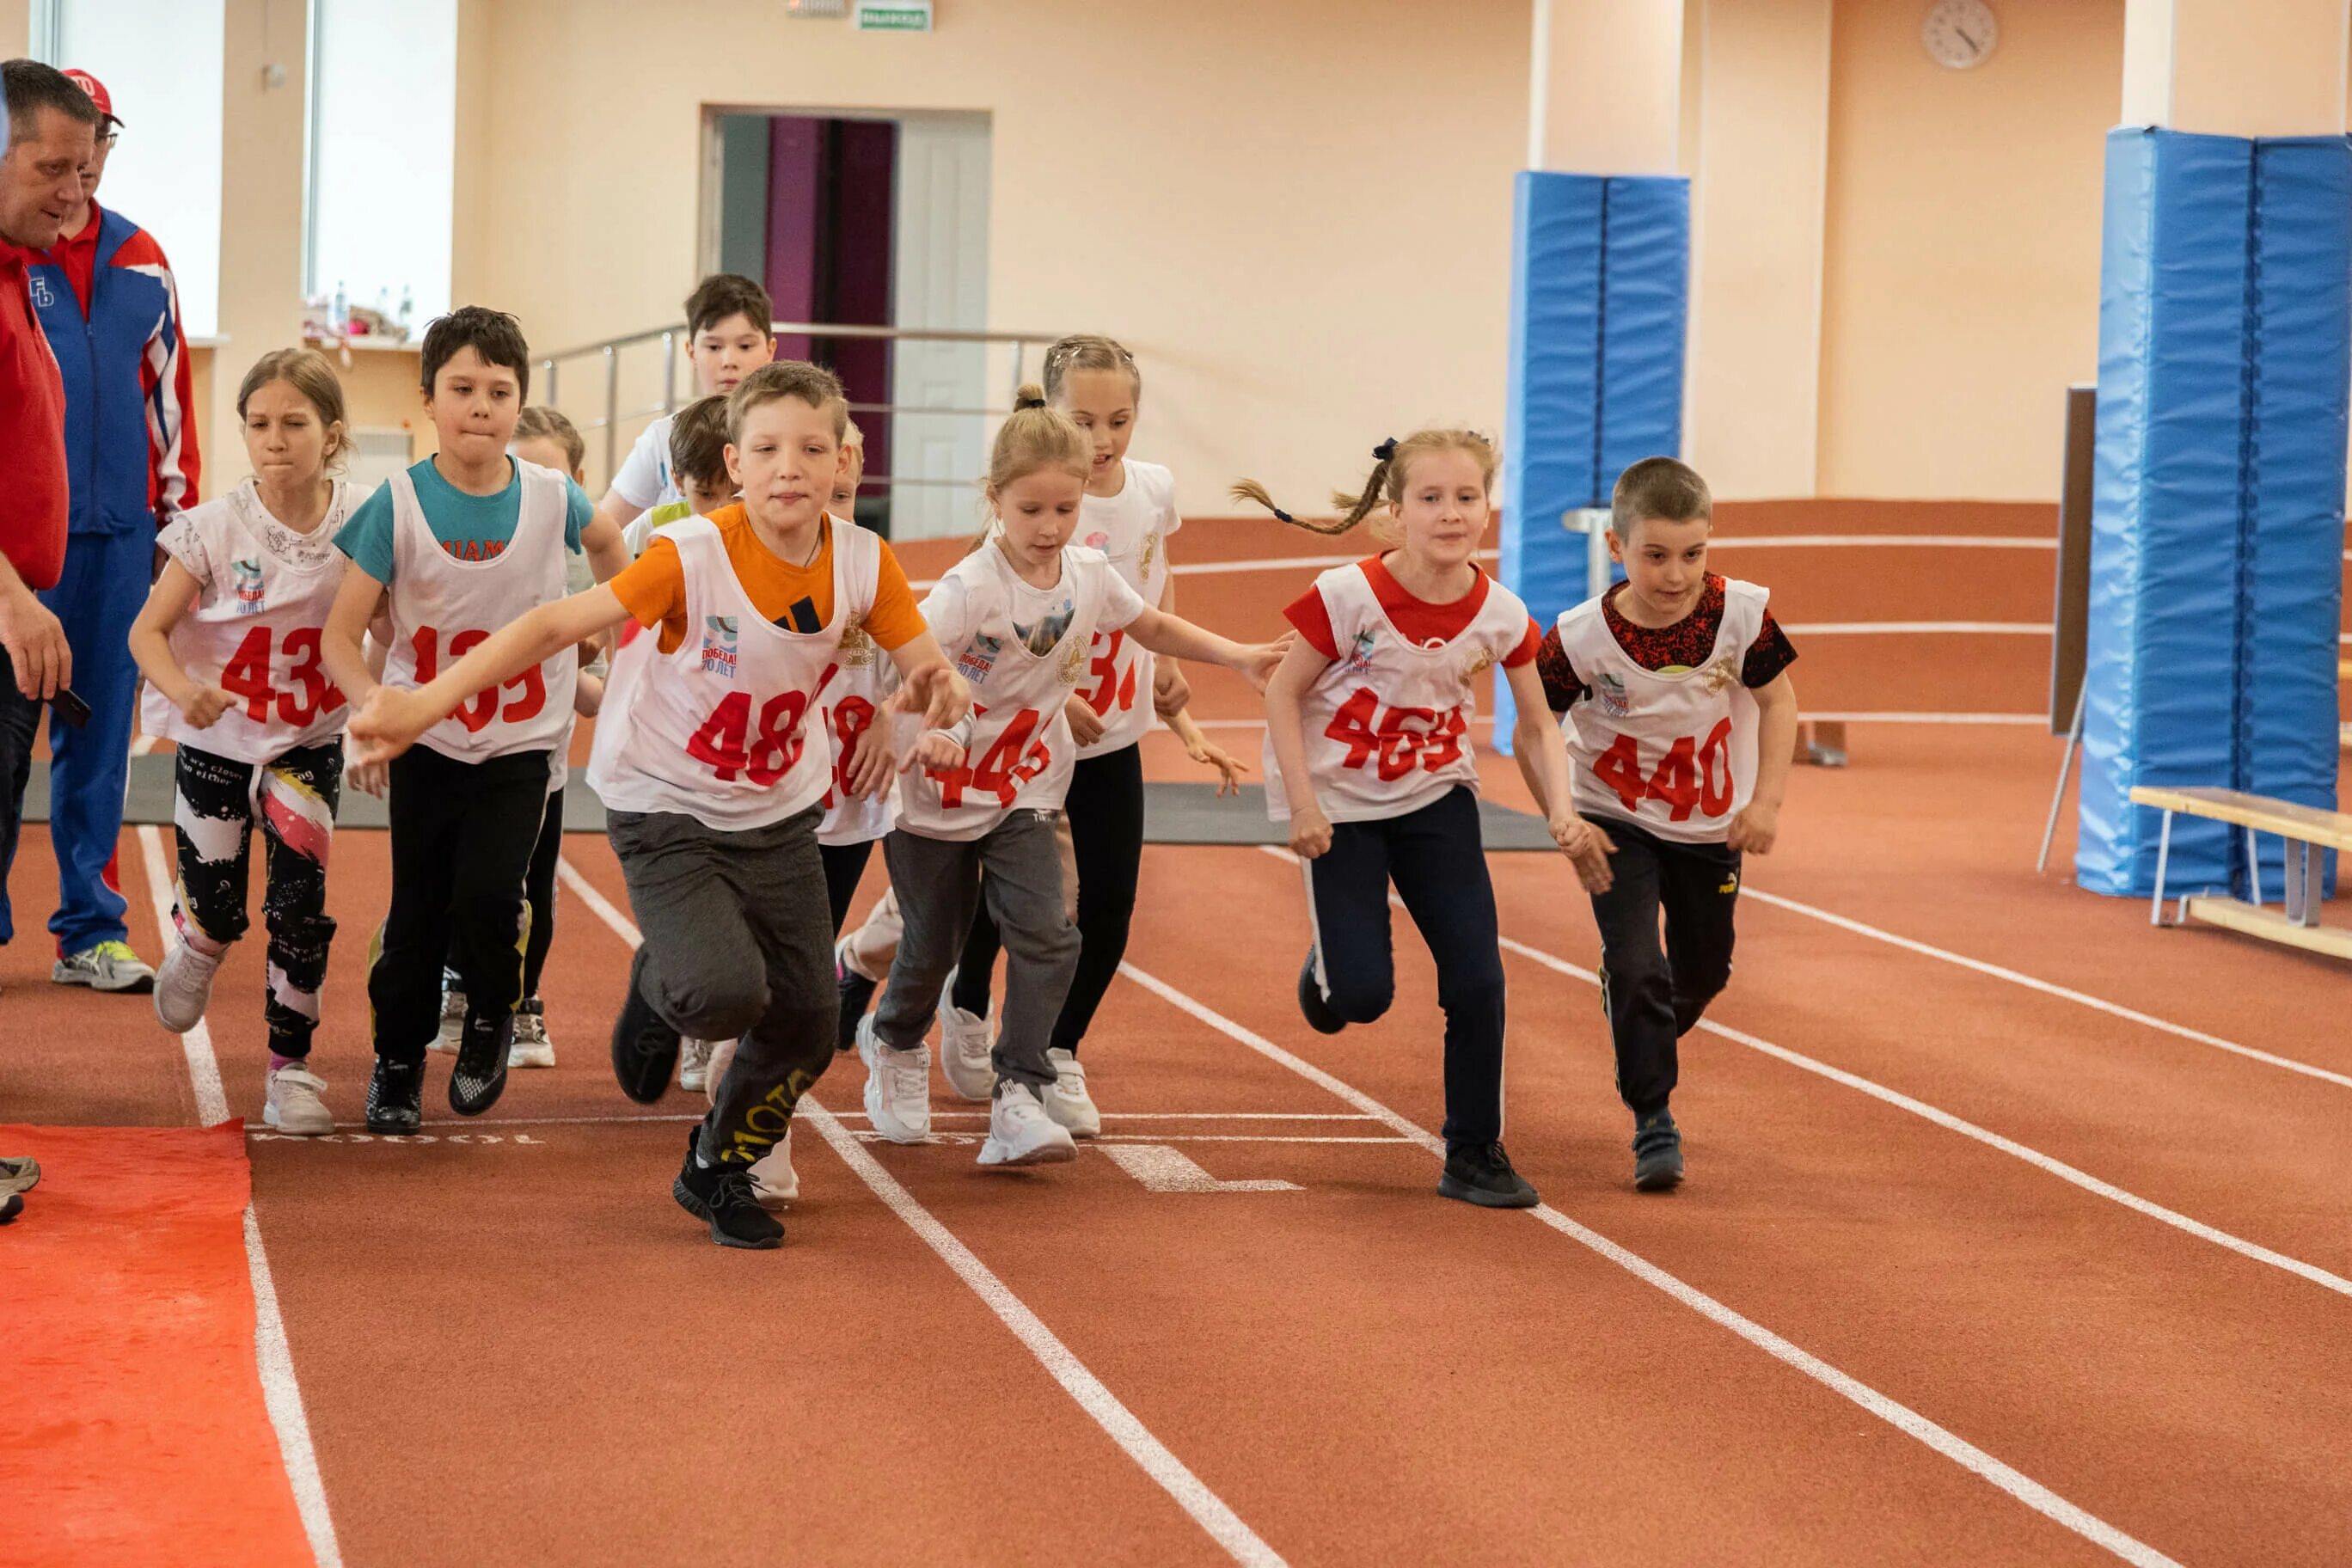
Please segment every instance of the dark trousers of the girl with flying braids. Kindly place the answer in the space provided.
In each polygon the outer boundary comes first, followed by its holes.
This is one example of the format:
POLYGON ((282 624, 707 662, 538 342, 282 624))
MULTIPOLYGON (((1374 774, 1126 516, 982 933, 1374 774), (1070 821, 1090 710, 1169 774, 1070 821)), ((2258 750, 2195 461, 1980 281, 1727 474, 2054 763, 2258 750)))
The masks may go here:
POLYGON ((1421 811, 1334 823, 1308 860, 1322 994, 1348 1023, 1371 1023, 1397 994, 1388 884, 1437 959, 1446 1013, 1446 1143, 1503 1135, 1503 950, 1479 846, 1477 795, 1456 785, 1421 811))

